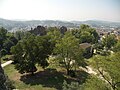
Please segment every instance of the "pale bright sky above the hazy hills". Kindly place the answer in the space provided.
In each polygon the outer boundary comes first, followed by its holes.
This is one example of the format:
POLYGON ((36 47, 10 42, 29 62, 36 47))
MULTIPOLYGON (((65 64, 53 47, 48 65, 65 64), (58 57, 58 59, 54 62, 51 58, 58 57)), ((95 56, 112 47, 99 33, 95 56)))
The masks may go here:
POLYGON ((120 22, 120 0, 0 0, 0 18, 120 22))

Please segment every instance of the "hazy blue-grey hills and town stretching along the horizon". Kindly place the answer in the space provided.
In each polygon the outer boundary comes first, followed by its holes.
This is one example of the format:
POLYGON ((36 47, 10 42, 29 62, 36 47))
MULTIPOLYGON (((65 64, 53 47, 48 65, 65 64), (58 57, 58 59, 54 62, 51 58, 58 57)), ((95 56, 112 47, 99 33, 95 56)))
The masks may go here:
POLYGON ((0 18, 0 27, 5 27, 9 31, 16 31, 20 29, 30 30, 31 27, 38 25, 42 26, 66 26, 67 28, 78 28, 80 24, 88 24, 92 27, 119 27, 120 22, 108 22, 99 20, 88 20, 88 21, 59 21, 59 20, 30 20, 30 21, 14 21, 0 18))

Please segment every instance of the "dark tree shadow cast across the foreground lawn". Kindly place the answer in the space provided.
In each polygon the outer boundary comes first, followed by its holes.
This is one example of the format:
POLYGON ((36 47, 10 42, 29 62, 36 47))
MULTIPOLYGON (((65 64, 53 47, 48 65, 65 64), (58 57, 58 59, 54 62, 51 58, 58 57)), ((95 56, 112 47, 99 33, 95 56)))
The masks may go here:
MULTIPOLYGON (((27 74, 21 76, 21 81, 29 85, 42 85, 43 87, 56 88, 62 90, 63 82, 66 80, 68 83, 79 82, 80 79, 66 77, 64 73, 58 72, 56 69, 46 69, 39 71, 34 76, 27 74)), ((81 83, 81 80, 80 80, 81 83)))

